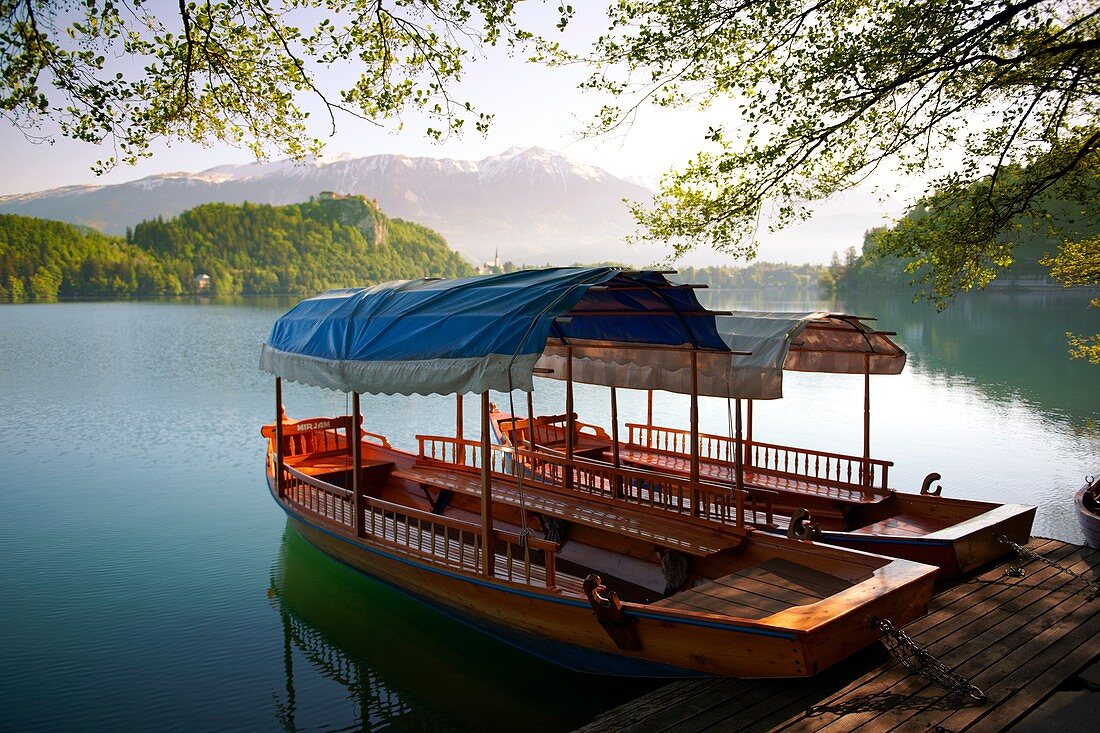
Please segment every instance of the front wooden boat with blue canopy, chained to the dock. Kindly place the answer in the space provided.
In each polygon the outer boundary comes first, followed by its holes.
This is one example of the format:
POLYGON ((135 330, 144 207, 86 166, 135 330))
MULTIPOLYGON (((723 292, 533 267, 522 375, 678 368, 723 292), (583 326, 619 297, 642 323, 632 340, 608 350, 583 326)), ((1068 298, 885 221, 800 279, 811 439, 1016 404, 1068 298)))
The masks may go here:
POLYGON ((878 638, 872 620, 922 615, 935 568, 758 532, 746 491, 491 441, 488 391, 530 392, 548 339, 614 336, 634 364, 728 358, 713 318, 660 273, 608 267, 304 300, 261 357, 276 376, 272 495, 321 550, 573 669, 817 674, 878 638), (690 325, 688 346, 670 324, 690 325), (284 379, 351 393, 351 415, 288 419, 284 379), (458 394, 457 435, 399 450, 362 429, 364 392, 458 394), (479 441, 462 435, 469 392, 479 441), (560 480, 535 483, 535 464, 560 480))

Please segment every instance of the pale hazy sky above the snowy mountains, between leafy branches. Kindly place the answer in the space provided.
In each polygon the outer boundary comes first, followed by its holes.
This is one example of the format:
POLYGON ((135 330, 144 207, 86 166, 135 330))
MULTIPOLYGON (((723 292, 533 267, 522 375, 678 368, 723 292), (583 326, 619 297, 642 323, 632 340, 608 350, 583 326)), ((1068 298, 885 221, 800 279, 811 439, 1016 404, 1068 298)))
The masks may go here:
MULTIPOLYGON (((604 17, 596 3, 576 3, 576 7, 578 14, 565 40, 583 44, 603 30, 604 17)), ((536 7, 526 12, 539 28, 552 28, 549 19, 553 13, 549 10, 536 7)), ((433 143, 422 134, 426 121, 415 114, 406 118, 404 129, 391 127, 386 130, 344 117, 338 118, 337 134, 326 138, 326 155, 402 153, 480 160, 513 145, 539 145, 619 176, 656 182, 661 173, 701 150, 710 125, 724 122, 722 106, 704 112, 648 108, 623 134, 582 139, 580 130, 602 103, 600 98, 576 89, 584 76, 582 67, 546 68, 524 63, 521 57, 512 58, 502 50, 492 50, 486 58, 470 65, 455 95, 496 116, 487 136, 468 133, 433 143)), ((319 112, 312 117, 318 122, 327 120, 327 116, 319 112)), ((322 125, 318 132, 327 134, 328 130, 322 125)), ((189 143, 160 143, 153 156, 139 165, 120 166, 96 176, 90 166, 109 154, 109 150, 62 138, 54 144, 33 144, 6 122, 0 122, 0 150, 3 151, 0 195, 78 184, 122 183, 158 173, 197 172, 252 160, 248 151, 224 144, 204 147, 189 143)), ((884 217, 897 216, 902 210, 900 200, 882 201, 870 188, 851 192, 824 203, 820 214, 806 225, 778 234, 762 232, 760 258, 824 262, 834 251, 853 244, 858 247, 866 229, 884 223, 884 217)), ((692 258, 692 263, 702 262, 729 260, 713 253, 692 258)))

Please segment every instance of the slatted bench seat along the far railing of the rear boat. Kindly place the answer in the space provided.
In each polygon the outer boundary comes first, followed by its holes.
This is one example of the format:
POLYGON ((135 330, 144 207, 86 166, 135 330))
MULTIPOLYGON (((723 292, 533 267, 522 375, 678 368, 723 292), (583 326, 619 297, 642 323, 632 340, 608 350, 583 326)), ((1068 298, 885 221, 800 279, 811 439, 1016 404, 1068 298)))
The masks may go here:
MULTIPOLYGON (((604 459, 612 459, 610 451, 604 452, 604 459)), ((619 460, 625 463, 632 463, 639 468, 656 469, 680 475, 691 473, 691 459, 686 456, 647 450, 644 446, 622 448, 619 450, 619 460)), ((733 467, 724 462, 701 459, 698 462, 698 474, 704 481, 726 484, 734 481, 733 467)), ((759 489, 820 496, 842 504, 876 504, 884 499, 881 494, 864 493, 858 489, 831 486, 818 483, 810 478, 794 479, 759 473, 749 467, 746 467, 745 470, 745 483, 759 489)))

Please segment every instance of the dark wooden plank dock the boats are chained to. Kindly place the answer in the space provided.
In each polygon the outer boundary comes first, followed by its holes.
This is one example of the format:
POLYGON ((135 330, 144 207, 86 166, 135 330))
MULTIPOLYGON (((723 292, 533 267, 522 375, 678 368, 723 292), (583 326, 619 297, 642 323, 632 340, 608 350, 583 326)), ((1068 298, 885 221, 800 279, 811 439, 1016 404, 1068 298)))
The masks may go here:
MULTIPOLYGON (((1100 579, 1100 550, 1038 538, 1027 547, 1100 579)), ((672 682, 581 730, 1003 731, 1100 656, 1100 598, 1069 573, 1013 554, 937 587, 928 614, 905 632, 986 701, 931 685, 876 645, 806 680, 672 682), (1023 577, 1005 573, 1019 565, 1023 577)))

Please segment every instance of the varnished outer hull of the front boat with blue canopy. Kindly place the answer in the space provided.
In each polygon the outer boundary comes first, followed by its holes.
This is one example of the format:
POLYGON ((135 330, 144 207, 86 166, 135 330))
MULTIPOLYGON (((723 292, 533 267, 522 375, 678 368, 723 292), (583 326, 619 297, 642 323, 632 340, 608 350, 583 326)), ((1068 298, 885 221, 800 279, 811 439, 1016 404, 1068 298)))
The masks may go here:
MULTIPOLYGON (((268 477, 268 488, 273 489, 268 477)), ((821 609, 805 628, 732 621, 711 614, 675 614, 626 603, 639 648, 624 649, 601 625, 583 597, 494 581, 436 567, 373 546, 272 495, 295 529, 324 554, 416 598, 484 633, 566 668, 647 677, 807 677, 878 638, 871 619, 895 625, 925 612, 932 576, 919 565, 892 575, 889 592, 849 613, 821 609), (690 616, 690 617, 685 617, 690 616), (682 661, 689 660, 691 667, 682 661)), ((894 568, 897 571, 897 568, 894 568)), ((815 604, 822 605, 822 604, 815 604)), ((813 614, 813 606, 807 606, 813 614)))

